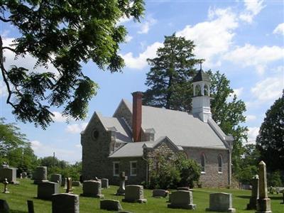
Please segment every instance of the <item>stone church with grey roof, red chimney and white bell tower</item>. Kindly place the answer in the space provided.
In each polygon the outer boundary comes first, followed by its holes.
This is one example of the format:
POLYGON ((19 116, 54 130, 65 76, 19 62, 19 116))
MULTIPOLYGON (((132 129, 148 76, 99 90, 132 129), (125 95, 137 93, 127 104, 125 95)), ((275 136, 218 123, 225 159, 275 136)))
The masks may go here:
POLYGON ((183 152, 200 163, 202 187, 231 185, 234 138, 212 119, 209 77, 200 70, 193 79, 192 113, 142 105, 142 92, 133 102, 122 99, 112 117, 94 112, 81 133, 82 178, 108 178, 118 184, 149 181, 148 158, 153 153, 183 152))

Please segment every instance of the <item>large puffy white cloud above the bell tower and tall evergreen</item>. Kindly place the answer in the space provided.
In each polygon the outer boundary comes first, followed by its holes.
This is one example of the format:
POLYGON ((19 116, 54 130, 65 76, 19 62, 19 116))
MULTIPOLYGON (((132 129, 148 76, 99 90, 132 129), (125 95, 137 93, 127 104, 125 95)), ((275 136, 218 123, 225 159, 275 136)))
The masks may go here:
POLYGON ((197 23, 195 26, 185 26, 176 35, 194 40, 196 57, 204 58, 204 65, 212 67, 221 65, 221 62, 213 63, 213 59, 229 50, 238 22, 236 15, 229 8, 209 9, 208 17, 209 21, 197 23))

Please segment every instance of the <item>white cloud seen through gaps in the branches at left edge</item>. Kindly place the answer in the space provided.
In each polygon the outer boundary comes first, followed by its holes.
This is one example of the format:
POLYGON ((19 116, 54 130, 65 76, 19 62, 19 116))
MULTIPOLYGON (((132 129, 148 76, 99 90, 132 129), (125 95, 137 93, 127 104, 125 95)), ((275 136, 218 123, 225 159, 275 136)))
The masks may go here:
MULTIPOLYGON (((5 38, 3 40, 3 46, 9 47, 9 45, 13 44, 14 38, 5 38)), ((9 70, 11 65, 16 65, 17 67, 25 67, 28 70, 36 71, 36 72, 53 72, 55 75, 58 75, 58 70, 53 67, 52 64, 48 63, 48 70, 45 69, 45 67, 37 67, 35 70, 33 67, 35 66, 35 63, 37 60, 33 58, 31 55, 27 54, 25 58, 18 57, 17 60, 15 60, 15 54, 11 52, 10 50, 4 51, 4 57, 5 57, 5 63, 4 66, 6 67, 6 70, 9 70)))

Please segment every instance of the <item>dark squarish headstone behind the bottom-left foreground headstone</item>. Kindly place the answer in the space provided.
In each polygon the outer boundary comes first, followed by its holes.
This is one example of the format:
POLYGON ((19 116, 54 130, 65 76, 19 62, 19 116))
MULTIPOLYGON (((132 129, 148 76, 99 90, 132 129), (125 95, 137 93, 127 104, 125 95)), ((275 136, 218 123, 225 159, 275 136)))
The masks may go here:
POLYGON ((40 182, 38 183, 38 198, 51 200, 51 195, 59 193, 57 182, 40 182))

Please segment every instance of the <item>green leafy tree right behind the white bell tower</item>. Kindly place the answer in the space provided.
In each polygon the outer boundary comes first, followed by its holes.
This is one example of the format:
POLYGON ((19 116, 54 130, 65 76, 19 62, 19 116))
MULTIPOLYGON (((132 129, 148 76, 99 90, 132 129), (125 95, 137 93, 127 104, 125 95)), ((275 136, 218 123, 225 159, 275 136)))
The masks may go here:
POLYGON ((237 99, 234 90, 230 87, 230 81, 219 71, 207 72, 210 78, 210 102, 212 119, 220 126, 226 135, 234 137, 234 148, 232 152, 233 173, 236 175, 241 170, 241 155, 244 154, 243 142, 247 141, 247 127, 241 125, 246 121, 244 112, 246 104, 241 99, 237 99), (231 100, 229 98, 232 97, 231 100))

